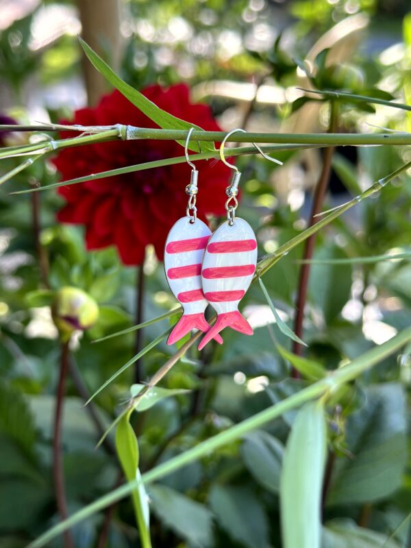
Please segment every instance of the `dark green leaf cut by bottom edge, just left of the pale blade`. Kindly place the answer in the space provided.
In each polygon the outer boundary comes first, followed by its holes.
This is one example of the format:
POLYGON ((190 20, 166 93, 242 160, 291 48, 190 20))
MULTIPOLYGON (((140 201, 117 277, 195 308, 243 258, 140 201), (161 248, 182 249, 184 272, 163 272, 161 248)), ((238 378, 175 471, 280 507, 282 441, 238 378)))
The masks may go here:
POLYGON ((210 506, 221 527, 238 543, 248 548, 270 546, 264 508, 249 488, 214 484, 210 506))

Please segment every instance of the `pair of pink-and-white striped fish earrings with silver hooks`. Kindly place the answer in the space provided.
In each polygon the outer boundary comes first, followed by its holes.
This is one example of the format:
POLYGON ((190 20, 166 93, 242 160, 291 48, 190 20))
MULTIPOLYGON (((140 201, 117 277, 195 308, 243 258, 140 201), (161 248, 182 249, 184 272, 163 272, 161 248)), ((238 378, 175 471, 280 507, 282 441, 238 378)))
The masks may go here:
MULTIPOLYGON (((185 147, 186 160, 192 168, 190 184, 186 186, 189 196, 186 216, 173 225, 167 236, 164 269, 171 291, 183 307, 183 315, 171 332, 167 344, 173 345, 192 329, 199 329, 206 333, 199 344, 201 350, 212 339, 222 344, 223 339, 219 333, 225 327, 246 335, 253 334, 251 325, 238 311, 238 304, 256 271, 257 241, 249 223, 236 218, 236 197, 241 173, 224 157, 227 138, 244 130, 234 129, 221 143, 221 161, 235 171, 232 182, 225 190, 228 197, 225 202, 227 221, 214 234, 206 223, 197 219, 195 203, 199 172, 188 158, 188 142, 193 130, 191 128, 188 132, 185 147), (204 316, 209 303, 217 312, 216 323, 212 327, 204 316)), ((255 143, 254 146, 264 158, 281 163, 267 156, 255 143)))

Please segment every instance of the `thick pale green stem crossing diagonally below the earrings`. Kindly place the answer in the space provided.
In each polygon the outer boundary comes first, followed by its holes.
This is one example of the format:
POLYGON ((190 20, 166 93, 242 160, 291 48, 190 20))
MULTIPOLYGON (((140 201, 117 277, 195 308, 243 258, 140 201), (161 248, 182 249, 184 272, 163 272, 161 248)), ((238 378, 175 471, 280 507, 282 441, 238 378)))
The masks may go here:
MULTIPOLYGON (((364 373, 364 371, 370 369, 375 364, 384 360, 384 358, 387 358, 395 351, 401 349, 401 347, 410 341, 411 327, 408 327, 407 329, 404 329, 403 332, 388 340, 386 343, 367 351, 359 358, 353 360, 351 364, 329 373, 327 377, 321 379, 315 384, 312 384, 311 386, 308 386, 307 388, 303 388, 303 390, 299 393, 276 403, 274 406, 266 408, 265 410, 249 417, 249 419, 246 419, 228 430, 225 430, 225 432, 220 432, 216 436, 199 443, 181 455, 160 464, 160 466, 156 466, 153 470, 142 475, 143 482, 148 484, 169 475, 170 473, 182 468, 182 466, 186 466, 190 462, 194 462, 199 458, 207 456, 211 451, 215 451, 216 449, 219 449, 219 447, 242 438, 242 436, 245 436, 245 434, 248 434, 253 429, 263 427, 266 423, 269 423, 273 421, 273 419, 276 419, 284 414, 284 412, 295 409, 303 403, 317 397, 321 397, 327 393, 332 393, 341 384, 353 381, 353 379, 359 377, 362 373, 364 373)), ((42 546, 46 546, 53 538, 62 534, 62 532, 69 529, 69 527, 73 527, 73 525, 88 518, 92 514, 95 514, 95 512, 99 512, 99 510, 110 506, 113 502, 130 495, 137 487, 138 479, 135 479, 134 481, 113 490, 111 493, 104 495, 100 499, 97 499, 97 501, 94 501, 90 505, 86 506, 86 508, 82 508, 82 510, 79 510, 73 514, 63 523, 59 523, 58 525, 52 527, 49 531, 45 532, 30 543, 27 548, 41 548, 42 546)))

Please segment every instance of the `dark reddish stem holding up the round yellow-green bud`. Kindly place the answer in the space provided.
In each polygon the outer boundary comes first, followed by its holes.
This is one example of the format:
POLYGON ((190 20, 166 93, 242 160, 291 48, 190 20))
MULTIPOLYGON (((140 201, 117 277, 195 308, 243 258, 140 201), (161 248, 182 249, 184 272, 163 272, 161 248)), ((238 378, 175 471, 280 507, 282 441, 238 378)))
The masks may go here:
MULTIPOLYGON (((53 432, 53 479, 55 499, 57 501, 57 508, 62 521, 64 521, 68 516, 62 458, 62 416, 68 360, 69 341, 66 341, 66 343, 62 343, 61 348, 60 375, 58 379, 57 393, 55 395, 53 432)), ((65 548, 74 548, 73 538, 71 538, 71 533, 69 530, 64 532, 64 546, 65 548)))

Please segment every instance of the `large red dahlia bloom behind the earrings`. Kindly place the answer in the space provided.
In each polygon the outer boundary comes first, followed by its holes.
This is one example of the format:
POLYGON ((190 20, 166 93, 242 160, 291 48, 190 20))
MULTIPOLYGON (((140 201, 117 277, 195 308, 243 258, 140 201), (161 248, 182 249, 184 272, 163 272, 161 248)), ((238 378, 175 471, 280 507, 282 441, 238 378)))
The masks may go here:
MULTIPOLYGON (((208 105, 190 103, 188 87, 184 84, 166 90, 158 85, 149 86, 142 93, 174 116, 209 131, 220 131, 208 105)), ((96 108, 77 110, 73 123, 157 127, 118 91, 105 95, 96 108)), ((62 133, 62 137, 68 136, 73 134, 62 133)), ((63 180, 68 180, 183 153, 174 141, 112 141, 63 150, 54 163, 63 180)), ((221 162, 214 166, 205 160, 196 163, 199 216, 204 219, 206 213, 224 214, 229 170, 221 162)), ((153 244, 162 260, 166 235, 186 212, 185 187, 189 181, 190 168, 184 163, 62 186, 58 192, 66 204, 58 212, 58 219, 63 223, 85 225, 88 249, 115 245, 124 264, 141 264, 147 244, 153 244)))

